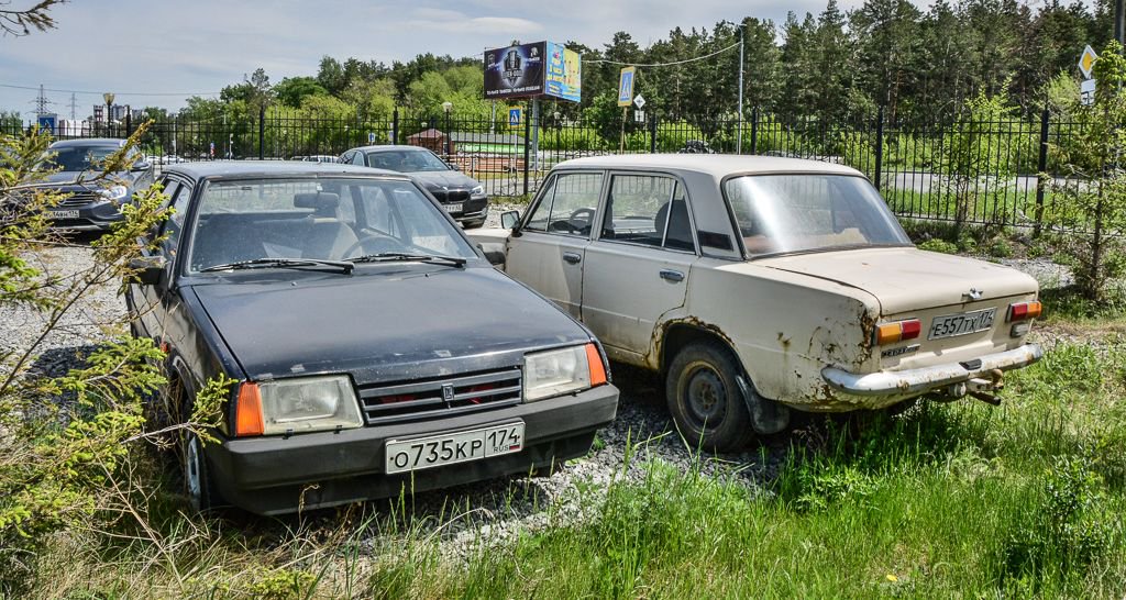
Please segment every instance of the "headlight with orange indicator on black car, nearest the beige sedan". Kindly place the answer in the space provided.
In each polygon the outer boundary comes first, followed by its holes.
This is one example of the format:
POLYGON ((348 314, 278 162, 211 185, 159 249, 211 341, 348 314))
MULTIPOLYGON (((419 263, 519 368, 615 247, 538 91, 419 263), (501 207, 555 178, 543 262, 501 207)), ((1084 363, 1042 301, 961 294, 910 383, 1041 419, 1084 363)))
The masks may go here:
POLYGON ((602 356, 593 343, 524 356, 524 401, 581 392, 606 383, 602 356))

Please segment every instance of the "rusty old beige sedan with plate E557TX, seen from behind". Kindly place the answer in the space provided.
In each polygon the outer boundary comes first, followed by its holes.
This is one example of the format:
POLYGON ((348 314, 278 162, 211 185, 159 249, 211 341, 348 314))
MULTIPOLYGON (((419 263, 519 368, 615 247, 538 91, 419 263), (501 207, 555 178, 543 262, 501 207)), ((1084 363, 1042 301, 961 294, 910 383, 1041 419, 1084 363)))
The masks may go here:
POLYGON ((995 403, 1036 280, 919 250, 858 171, 766 156, 557 165, 526 214, 471 233, 499 268, 586 323, 610 358, 665 376, 691 444, 732 449, 790 410, 928 393, 995 403))

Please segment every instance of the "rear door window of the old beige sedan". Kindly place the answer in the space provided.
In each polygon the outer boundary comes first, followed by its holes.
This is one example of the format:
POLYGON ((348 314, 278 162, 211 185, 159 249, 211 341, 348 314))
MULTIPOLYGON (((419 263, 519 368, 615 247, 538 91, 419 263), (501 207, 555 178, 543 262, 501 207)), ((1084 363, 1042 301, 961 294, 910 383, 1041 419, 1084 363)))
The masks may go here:
POLYGON ((601 239, 696 250, 683 186, 663 176, 614 176, 601 239))

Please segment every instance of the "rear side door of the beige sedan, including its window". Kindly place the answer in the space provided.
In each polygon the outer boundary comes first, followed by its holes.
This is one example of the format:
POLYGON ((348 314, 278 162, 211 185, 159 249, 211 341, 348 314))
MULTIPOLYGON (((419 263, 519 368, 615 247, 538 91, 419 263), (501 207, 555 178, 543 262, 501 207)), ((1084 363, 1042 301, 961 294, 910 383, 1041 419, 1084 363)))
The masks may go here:
POLYGON ((641 364, 664 313, 683 306, 697 260, 688 197, 660 173, 611 173, 583 260, 582 320, 610 356, 641 364))

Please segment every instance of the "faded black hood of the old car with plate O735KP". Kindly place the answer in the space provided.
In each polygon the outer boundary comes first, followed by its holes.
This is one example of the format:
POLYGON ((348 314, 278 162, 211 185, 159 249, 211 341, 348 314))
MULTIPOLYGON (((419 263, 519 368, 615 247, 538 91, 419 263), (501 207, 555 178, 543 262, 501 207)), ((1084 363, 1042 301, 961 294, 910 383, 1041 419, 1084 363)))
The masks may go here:
POLYGON ((590 340, 553 304, 488 267, 258 275, 190 286, 252 379, 350 373, 364 385, 439 377, 510 367, 528 350, 590 340))

